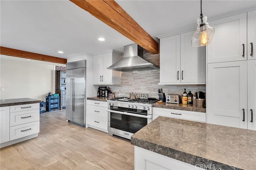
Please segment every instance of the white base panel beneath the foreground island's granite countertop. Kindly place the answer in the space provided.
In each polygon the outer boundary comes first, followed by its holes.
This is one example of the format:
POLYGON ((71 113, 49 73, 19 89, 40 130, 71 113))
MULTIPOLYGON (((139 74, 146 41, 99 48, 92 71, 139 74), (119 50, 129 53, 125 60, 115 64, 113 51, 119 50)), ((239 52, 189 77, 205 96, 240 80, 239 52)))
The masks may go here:
POLYGON ((134 170, 202 170, 150 150, 134 146, 134 170))

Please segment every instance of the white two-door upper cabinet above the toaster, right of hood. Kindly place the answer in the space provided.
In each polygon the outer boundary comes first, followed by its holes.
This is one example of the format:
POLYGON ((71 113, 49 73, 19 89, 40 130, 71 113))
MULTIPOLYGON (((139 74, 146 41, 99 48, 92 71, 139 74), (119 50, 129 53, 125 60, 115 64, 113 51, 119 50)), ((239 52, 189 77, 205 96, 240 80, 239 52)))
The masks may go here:
POLYGON ((193 34, 160 38, 159 84, 206 84, 206 49, 192 47, 193 34))

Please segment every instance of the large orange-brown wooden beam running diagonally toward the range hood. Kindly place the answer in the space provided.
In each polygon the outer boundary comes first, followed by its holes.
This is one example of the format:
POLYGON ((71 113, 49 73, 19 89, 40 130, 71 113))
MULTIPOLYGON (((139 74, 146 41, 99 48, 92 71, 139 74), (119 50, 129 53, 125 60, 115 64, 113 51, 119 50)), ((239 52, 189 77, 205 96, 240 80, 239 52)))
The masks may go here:
POLYGON ((114 0, 70 0, 147 51, 158 54, 158 43, 114 0))

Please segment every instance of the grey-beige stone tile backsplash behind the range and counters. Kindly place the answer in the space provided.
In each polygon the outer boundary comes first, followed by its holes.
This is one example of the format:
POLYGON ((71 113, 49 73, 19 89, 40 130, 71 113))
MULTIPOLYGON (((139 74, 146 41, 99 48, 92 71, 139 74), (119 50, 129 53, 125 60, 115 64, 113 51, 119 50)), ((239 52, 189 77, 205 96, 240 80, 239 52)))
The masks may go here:
MULTIPOLYGON (((123 56, 121 56, 122 58, 123 56)), ((144 59, 160 65, 160 55, 152 54, 144 50, 144 59)), ((117 96, 118 90, 122 96, 128 96, 129 92, 147 93, 148 97, 158 98, 158 88, 162 88, 165 94, 183 94, 184 88, 186 92, 191 90, 194 94, 198 89, 205 92, 205 85, 158 85, 160 82, 160 70, 143 70, 122 72, 121 85, 109 86, 117 96)))

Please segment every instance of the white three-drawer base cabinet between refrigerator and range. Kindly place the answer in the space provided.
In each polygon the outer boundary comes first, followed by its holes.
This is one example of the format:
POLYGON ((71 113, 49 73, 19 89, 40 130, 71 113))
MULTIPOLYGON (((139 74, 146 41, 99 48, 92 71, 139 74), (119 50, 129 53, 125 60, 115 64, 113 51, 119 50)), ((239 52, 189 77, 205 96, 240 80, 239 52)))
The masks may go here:
POLYGON ((108 109, 107 102, 94 100, 87 101, 87 121, 86 124, 94 129, 108 131, 108 109))

